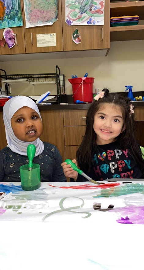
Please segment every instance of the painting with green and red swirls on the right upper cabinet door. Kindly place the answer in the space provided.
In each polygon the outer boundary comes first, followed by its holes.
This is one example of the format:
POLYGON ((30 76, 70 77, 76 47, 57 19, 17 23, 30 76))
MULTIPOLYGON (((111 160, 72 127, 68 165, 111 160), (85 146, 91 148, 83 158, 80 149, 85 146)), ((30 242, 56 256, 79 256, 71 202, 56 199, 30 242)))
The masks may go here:
POLYGON ((68 25, 104 25, 105 0, 66 0, 65 22, 68 25))

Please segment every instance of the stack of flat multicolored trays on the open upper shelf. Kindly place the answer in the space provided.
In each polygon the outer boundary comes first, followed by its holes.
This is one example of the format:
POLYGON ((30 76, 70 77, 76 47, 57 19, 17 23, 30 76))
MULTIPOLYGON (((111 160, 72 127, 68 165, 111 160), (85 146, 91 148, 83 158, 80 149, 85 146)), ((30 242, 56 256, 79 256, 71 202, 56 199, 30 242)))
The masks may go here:
POLYGON ((121 16, 121 17, 111 17, 110 26, 126 26, 126 25, 137 25, 139 21, 139 16, 121 16))

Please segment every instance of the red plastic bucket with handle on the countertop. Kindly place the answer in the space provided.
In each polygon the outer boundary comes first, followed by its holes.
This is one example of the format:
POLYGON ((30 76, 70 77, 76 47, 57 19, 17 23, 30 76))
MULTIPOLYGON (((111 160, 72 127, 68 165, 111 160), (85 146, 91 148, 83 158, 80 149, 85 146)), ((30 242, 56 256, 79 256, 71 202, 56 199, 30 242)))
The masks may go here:
POLYGON ((88 103, 92 102, 94 78, 92 78, 92 77, 73 78, 73 79, 68 79, 68 81, 72 84, 74 103, 76 103, 76 100, 85 101, 88 103), (75 92, 76 92, 76 94, 75 94, 75 92))

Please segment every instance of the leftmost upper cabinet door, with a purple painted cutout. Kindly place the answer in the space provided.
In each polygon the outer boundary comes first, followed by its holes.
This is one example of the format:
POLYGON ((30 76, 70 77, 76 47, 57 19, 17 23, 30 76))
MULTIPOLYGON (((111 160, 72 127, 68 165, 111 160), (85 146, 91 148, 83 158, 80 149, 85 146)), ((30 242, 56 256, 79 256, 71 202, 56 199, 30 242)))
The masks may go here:
MULTIPOLYGON (((22 13, 22 4, 20 0, 21 13, 22 13)), ((13 30, 14 34, 16 34, 16 44, 14 47, 8 47, 7 43, 5 43, 4 47, 0 46, 0 55, 5 54, 20 54, 25 53, 25 41, 24 41, 24 25, 17 27, 9 27, 13 30)), ((4 29, 0 29, 0 40, 3 38, 4 29)))

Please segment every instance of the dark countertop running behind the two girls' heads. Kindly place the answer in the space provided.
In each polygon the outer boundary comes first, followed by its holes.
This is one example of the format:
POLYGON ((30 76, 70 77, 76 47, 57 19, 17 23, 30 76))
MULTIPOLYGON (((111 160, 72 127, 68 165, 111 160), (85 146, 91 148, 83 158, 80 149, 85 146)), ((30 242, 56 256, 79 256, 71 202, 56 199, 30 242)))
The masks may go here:
MULTIPOLYGON (((132 101, 132 105, 135 107, 144 107, 144 101, 132 101)), ((39 110, 81 110, 89 109, 90 104, 65 104, 65 105, 38 105, 39 110)), ((3 110, 3 107, 0 106, 0 111, 3 110)))

